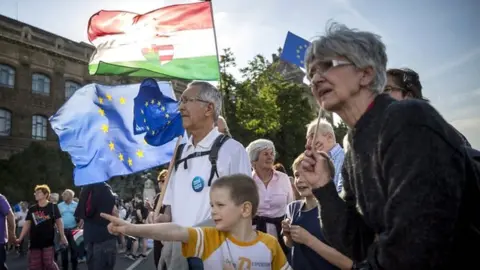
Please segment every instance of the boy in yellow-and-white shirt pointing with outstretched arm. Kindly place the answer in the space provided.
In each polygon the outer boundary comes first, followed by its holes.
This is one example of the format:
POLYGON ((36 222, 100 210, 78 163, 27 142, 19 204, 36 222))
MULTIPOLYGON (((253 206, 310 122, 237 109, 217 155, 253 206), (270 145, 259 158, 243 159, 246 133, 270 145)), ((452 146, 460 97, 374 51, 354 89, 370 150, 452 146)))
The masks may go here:
POLYGON ((290 269, 278 241, 252 228, 258 201, 253 179, 235 174, 217 179, 210 188, 215 228, 185 228, 173 223, 134 225, 111 215, 101 215, 111 222, 108 229, 112 234, 181 241, 186 258, 201 259, 203 268, 200 269, 290 269))

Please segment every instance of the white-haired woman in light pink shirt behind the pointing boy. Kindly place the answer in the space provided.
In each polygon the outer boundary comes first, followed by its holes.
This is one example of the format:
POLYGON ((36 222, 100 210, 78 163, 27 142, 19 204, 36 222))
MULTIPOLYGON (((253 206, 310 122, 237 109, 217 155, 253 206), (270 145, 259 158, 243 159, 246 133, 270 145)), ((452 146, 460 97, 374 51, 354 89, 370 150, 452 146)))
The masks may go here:
MULTIPOLYGON (((287 205, 293 201, 293 190, 288 175, 274 169, 275 146, 266 139, 258 139, 247 146, 252 163, 252 178, 258 186, 260 203, 253 219, 257 230, 278 239, 287 205)), ((279 241, 285 250, 283 241, 279 241), (283 243, 283 244, 282 244, 283 243)))

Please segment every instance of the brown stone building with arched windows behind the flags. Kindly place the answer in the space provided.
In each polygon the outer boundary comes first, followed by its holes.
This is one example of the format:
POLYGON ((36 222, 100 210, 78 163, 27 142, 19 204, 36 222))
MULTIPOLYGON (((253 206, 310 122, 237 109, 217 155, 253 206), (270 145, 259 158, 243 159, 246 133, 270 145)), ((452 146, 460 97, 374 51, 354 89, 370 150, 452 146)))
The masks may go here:
MULTIPOLYGON (((57 146, 48 117, 82 85, 135 83, 140 79, 90 76, 94 47, 0 15, 0 159, 32 140, 57 146)), ((186 82, 173 81, 176 93, 186 82)))

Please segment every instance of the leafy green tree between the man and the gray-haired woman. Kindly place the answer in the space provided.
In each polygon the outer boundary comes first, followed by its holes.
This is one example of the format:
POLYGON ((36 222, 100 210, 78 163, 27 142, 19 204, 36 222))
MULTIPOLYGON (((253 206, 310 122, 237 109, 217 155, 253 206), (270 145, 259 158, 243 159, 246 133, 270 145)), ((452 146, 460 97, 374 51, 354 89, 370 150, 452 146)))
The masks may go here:
MULTIPOLYGON (((224 53, 224 65, 234 67, 233 53, 224 53)), ((305 149, 305 125, 314 117, 314 111, 306 97, 308 87, 286 81, 277 72, 278 64, 276 55, 272 61, 257 55, 240 70, 242 81, 232 79, 224 68, 222 78, 226 81, 221 83, 221 89, 224 95, 227 89, 234 93, 233 98, 225 100, 225 108, 231 108, 226 115, 233 136, 244 145, 259 138, 272 140, 277 161, 288 168, 305 149)))

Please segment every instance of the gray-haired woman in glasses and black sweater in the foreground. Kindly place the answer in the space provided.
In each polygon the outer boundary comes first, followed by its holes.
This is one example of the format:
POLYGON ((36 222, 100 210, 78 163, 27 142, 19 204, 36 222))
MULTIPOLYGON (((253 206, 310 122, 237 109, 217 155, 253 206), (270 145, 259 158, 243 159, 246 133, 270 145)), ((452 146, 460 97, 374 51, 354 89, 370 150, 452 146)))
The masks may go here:
POLYGON ((301 172, 330 244, 353 269, 468 269, 478 264, 478 171, 465 142, 427 102, 382 94, 380 37, 332 24, 305 54, 322 109, 349 126, 343 200, 325 158, 307 147, 301 172), (476 246, 477 248, 471 248, 476 246))

